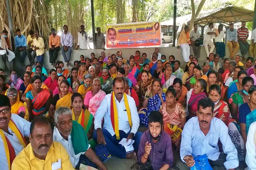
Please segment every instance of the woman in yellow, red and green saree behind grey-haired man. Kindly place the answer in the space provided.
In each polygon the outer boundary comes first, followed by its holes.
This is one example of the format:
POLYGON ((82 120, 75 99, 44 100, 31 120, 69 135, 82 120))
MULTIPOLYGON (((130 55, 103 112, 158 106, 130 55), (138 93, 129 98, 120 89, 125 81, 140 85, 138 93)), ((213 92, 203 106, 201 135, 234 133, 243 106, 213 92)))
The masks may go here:
POLYGON ((81 94, 74 93, 71 97, 72 120, 79 123, 87 133, 88 140, 92 138, 94 118, 92 114, 83 109, 83 99, 81 94))

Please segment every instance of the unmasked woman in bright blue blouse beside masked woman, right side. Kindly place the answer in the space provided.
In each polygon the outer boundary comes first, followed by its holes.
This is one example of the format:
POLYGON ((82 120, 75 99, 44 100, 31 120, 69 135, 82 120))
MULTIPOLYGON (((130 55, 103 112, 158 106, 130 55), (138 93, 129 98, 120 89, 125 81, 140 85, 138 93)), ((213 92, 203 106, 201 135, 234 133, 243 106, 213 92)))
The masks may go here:
POLYGON ((237 74, 238 82, 231 84, 230 87, 228 88, 228 92, 227 92, 228 99, 230 99, 231 94, 239 92, 240 90, 243 90, 242 81, 244 77, 247 77, 246 71, 244 70, 239 71, 237 74))

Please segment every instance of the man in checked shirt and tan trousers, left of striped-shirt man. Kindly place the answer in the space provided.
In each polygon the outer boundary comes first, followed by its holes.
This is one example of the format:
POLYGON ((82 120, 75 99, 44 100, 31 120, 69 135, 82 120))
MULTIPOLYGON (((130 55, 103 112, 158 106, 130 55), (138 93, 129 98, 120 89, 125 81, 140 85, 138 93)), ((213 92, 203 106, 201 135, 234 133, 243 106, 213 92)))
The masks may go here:
POLYGON ((234 29, 233 23, 229 24, 229 30, 226 32, 226 36, 227 46, 229 47, 229 56, 231 59, 234 59, 234 56, 239 48, 239 43, 237 42, 237 30, 234 29))

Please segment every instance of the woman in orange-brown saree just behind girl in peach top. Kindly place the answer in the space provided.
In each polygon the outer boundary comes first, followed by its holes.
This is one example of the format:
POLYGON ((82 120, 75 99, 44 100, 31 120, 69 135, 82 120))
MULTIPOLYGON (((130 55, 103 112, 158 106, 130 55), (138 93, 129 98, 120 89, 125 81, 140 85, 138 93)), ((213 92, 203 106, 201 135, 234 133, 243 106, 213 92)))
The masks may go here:
POLYGON ((182 85, 181 79, 175 78, 173 80, 173 85, 169 88, 174 88, 174 90, 176 90, 176 102, 180 103, 182 106, 186 106, 186 96, 188 89, 182 85))

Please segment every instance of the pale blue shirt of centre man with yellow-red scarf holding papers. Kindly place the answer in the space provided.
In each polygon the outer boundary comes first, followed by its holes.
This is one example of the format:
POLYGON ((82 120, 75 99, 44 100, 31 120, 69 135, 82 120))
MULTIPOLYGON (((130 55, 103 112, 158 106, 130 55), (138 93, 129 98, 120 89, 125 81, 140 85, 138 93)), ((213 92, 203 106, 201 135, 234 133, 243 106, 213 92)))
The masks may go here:
MULTIPOLYGON (((114 136, 115 132, 112 127, 111 123, 111 117, 110 117, 110 103, 111 103, 111 94, 107 94, 104 99, 102 100, 100 107, 95 113, 95 118, 94 118, 94 128, 97 130, 97 128, 101 128, 101 120, 104 118, 104 125, 103 129, 108 130, 108 132, 114 136)), ((127 95, 127 100, 129 103, 129 108, 131 111, 131 118, 132 118, 132 129, 130 128, 129 121, 128 121, 128 116, 124 104, 124 96, 120 103, 115 97, 115 102, 116 102, 116 107, 117 107, 117 112, 118 112, 118 126, 119 130, 123 130, 125 133, 128 133, 129 130, 131 129, 131 133, 136 133, 138 131, 138 128, 140 126, 140 119, 139 115, 137 112, 136 104, 134 99, 127 95)))

